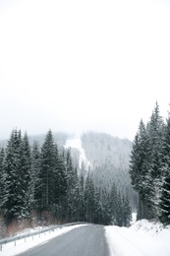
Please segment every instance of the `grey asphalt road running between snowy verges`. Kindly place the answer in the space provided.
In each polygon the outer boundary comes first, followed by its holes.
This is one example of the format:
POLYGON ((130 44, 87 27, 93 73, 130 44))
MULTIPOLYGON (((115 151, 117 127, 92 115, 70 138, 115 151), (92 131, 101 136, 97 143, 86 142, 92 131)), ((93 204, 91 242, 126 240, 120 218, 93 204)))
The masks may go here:
POLYGON ((102 225, 77 227, 48 242, 25 251, 20 256, 109 256, 102 225))

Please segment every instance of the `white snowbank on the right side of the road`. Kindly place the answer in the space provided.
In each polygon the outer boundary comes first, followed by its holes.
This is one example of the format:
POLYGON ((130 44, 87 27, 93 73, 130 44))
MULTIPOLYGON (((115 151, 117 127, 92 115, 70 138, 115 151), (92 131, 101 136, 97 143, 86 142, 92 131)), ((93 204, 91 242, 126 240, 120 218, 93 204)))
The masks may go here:
POLYGON ((105 227, 111 256, 169 256, 170 226, 142 220, 131 227, 105 227))

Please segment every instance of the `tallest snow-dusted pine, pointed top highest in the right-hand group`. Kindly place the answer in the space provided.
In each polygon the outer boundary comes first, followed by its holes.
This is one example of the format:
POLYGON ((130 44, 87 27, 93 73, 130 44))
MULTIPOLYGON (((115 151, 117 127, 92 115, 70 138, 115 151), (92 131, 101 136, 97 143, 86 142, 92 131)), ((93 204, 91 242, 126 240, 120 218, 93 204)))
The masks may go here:
POLYGON ((164 123, 159 114, 159 106, 156 102, 155 108, 147 125, 148 131, 148 151, 149 159, 147 160, 147 202, 150 206, 149 219, 157 219, 159 215, 159 199, 162 186, 162 166, 164 160, 163 136, 164 123))

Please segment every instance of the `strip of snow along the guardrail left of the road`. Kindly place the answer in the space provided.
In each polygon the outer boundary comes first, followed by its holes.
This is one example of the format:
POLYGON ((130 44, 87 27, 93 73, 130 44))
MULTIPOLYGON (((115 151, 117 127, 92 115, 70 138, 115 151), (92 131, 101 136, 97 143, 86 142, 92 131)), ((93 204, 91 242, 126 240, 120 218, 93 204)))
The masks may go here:
MULTIPOLYGON (((85 224, 77 224, 77 225, 71 225, 71 226, 64 226, 62 228, 57 228, 55 231, 47 231, 45 233, 41 233, 32 236, 29 236, 24 239, 21 240, 17 240, 16 241, 16 246, 15 246, 15 242, 10 242, 7 243, 5 245, 2 245, 2 251, 0 251, 0 256, 13 256, 13 255, 18 255, 19 253, 22 253, 24 251, 27 251, 29 248, 36 246, 38 244, 42 244, 42 243, 46 243, 48 242, 51 238, 54 238, 58 235, 62 235, 66 232, 71 231, 74 228, 77 228, 79 226, 82 226, 85 224)), ((33 231, 36 231, 37 229, 41 229, 40 227, 36 228, 36 229, 26 229, 24 232, 20 233, 20 234, 24 234, 24 233, 30 233, 33 231)))

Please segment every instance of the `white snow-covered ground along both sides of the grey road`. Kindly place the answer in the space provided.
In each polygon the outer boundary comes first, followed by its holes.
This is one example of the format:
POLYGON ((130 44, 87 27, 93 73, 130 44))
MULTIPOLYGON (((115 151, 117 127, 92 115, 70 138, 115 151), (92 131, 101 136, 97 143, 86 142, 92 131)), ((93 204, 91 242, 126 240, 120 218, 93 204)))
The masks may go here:
MULTIPOLYGON (((35 235, 33 239, 32 236, 27 237, 26 241, 17 240, 16 246, 14 242, 10 242, 3 245, 0 256, 17 255, 81 225, 84 224, 65 226, 50 233, 47 231, 46 234, 35 235)), ((26 233, 31 231, 35 229, 25 230, 26 233)), ((170 225, 163 228, 162 224, 142 220, 131 227, 105 226, 105 234, 110 256, 170 256, 170 225)))

